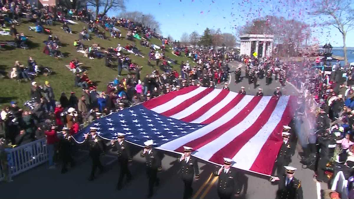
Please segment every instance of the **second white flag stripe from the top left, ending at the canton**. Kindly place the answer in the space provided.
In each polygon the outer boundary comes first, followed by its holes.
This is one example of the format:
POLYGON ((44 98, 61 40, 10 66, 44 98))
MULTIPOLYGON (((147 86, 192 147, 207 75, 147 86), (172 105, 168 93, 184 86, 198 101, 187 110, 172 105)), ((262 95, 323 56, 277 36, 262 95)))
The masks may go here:
POLYGON ((221 89, 214 89, 208 95, 206 95, 203 98, 199 99, 198 101, 196 101, 195 103, 193 103, 189 107, 185 108, 181 112, 172 115, 171 118, 175 118, 177 120, 180 120, 182 118, 187 117, 188 115, 196 112, 198 109, 203 107, 205 104, 207 104, 210 101, 212 101, 216 96, 219 95, 219 93, 221 91, 222 91, 221 89))

